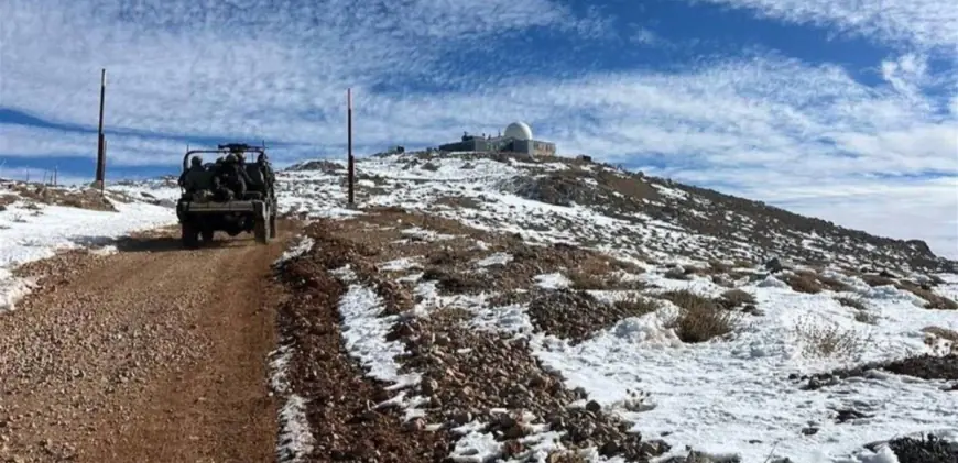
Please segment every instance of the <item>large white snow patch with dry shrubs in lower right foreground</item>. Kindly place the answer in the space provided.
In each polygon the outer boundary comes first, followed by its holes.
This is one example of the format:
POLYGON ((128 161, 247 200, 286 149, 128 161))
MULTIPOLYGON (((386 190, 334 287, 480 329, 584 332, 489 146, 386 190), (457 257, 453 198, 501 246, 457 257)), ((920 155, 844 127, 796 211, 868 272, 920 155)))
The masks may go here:
POLYGON ((941 390, 940 382, 888 374, 801 390, 788 375, 849 365, 842 357, 803 355, 796 329, 809 316, 854 330, 862 340, 871 338, 856 355, 871 362, 928 352, 921 329, 954 327, 958 313, 918 309, 904 297, 881 297, 868 300, 882 320, 872 327, 857 322, 853 310, 827 294, 798 294, 787 285, 762 283, 749 290, 765 316, 742 326, 730 340, 683 344, 663 326, 668 316, 661 309, 622 320, 577 345, 540 334, 533 335, 532 345, 568 387, 585 388, 602 405, 628 399, 630 388, 649 394, 651 409, 619 411, 642 436, 712 454, 737 453, 744 462, 764 461, 775 443, 773 456, 796 463, 847 461, 868 442, 954 427, 946 410, 958 409, 958 396, 941 390), (837 423, 835 410, 840 408, 873 417, 837 423), (802 434, 808 426, 818 432, 802 434))

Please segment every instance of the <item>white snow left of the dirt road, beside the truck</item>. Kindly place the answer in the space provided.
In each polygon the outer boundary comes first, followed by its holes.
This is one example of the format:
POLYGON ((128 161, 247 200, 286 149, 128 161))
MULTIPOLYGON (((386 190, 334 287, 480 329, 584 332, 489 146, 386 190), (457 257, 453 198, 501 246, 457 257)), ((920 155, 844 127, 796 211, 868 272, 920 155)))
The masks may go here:
POLYGON ((133 231, 176 222, 173 209, 113 201, 118 212, 17 201, 0 210, 0 311, 13 309, 33 282, 14 278, 18 265, 51 257, 59 250, 109 245, 133 231))

